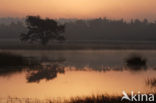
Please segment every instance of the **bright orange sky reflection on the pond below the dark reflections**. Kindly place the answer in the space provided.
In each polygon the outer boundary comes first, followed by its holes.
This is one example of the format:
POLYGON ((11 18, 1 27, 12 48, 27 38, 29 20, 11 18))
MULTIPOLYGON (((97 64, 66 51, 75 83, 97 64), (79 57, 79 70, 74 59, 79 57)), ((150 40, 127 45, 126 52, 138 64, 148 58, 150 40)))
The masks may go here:
POLYGON ((10 77, 0 77, 0 97, 31 97, 31 98, 69 98, 92 94, 122 95, 122 91, 149 92, 145 81, 156 78, 156 71, 149 69, 134 73, 128 70, 109 72, 95 71, 90 68, 77 70, 66 67, 65 73, 58 73, 50 81, 40 80, 39 83, 28 83, 26 72, 10 77))

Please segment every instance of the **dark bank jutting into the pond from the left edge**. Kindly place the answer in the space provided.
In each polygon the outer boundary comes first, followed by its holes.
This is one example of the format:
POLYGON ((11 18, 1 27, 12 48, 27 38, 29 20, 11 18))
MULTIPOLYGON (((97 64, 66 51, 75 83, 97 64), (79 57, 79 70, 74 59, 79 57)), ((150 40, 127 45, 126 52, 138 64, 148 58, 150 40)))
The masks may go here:
POLYGON ((40 62, 35 58, 26 58, 9 52, 0 52, 0 76, 7 76, 33 69, 38 65, 40 65, 40 62))

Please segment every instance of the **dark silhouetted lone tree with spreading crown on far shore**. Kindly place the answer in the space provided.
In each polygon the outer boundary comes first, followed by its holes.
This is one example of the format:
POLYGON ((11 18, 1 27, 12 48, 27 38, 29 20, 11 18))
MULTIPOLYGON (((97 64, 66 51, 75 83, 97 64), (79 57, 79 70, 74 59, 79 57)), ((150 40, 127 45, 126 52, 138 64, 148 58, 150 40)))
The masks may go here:
POLYGON ((21 40, 27 42, 39 42, 46 45, 50 40, 65 40, 61 35, 65 31, 65 25, 59 25, 53 19, 41 19, 39 16, 27 16, 27 33, 22 33, 21 40))

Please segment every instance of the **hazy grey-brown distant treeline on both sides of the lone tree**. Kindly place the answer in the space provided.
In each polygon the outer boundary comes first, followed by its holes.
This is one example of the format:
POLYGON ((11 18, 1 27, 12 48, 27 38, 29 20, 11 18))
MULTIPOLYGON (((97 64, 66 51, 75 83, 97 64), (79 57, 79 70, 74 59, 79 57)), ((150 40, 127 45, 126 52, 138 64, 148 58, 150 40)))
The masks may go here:
MULTIPOLYGON (((138 19, 126 22, 107 18, 76 20, 65 24, 66 40, 121 40, 121 41, 155 41, 156 22, 138 19)), ((0 38, 19 38, 21 32, 26 31, 22 21, 9 25, 0 24, 0 38)))

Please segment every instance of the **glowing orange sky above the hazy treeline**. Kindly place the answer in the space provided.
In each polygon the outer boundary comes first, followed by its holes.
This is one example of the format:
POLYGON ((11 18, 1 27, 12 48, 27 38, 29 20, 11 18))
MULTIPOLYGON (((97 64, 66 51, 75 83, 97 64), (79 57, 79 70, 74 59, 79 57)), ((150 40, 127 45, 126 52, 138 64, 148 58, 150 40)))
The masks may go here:
POLYGON ((156 0, 0 0, 0 17, 148 18, 156 20, 156 0))

